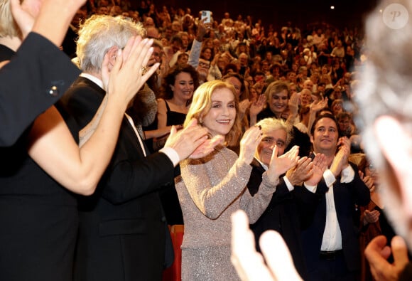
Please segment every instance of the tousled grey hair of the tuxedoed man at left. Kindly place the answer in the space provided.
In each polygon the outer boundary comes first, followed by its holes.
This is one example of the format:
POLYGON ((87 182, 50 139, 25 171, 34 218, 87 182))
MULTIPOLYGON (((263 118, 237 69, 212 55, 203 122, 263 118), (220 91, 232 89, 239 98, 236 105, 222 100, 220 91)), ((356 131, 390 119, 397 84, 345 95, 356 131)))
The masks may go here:
POLYGON ((99 71, 110 48, 124 48, 132 36, 146 36, 142 23, 123 16, 94 15, 82 24, 77 40, 77 57, 83 71, 99 71))

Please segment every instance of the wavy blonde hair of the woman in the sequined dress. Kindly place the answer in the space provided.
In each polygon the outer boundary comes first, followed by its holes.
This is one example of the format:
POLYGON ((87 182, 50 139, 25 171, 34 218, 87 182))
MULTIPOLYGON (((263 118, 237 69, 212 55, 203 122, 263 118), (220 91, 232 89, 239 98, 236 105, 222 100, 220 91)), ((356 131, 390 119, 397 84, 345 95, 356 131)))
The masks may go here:
POLYGON ((229 83, 223 82, 221 80, 214 80, 200 85, 200 87, 197 88, 197 90, 193 94, 193 101, 190 105, 188 115, 186 115, 186 120, 183 125, 184 127, 187 127, 190 120, 192 120, 193 118, 197 119, 199 124, 202 124, 202 118, 205 117, 205 115, 207 115, 207 113, 209 113, 210 109, 212 108, 213 93, 216 90, 222 88, 227 88, 232 92, 234 97, 234 105, 236 108, 236 117, 234 119, 233 127, 232 129, 230 129, 229 133, 227 133, 224 139, 225 144, 230 147, 238 143, 239 137, 242 134, 242 126, 239 117, 239 100, 237 98, 233 85, 230 85, 229 83))

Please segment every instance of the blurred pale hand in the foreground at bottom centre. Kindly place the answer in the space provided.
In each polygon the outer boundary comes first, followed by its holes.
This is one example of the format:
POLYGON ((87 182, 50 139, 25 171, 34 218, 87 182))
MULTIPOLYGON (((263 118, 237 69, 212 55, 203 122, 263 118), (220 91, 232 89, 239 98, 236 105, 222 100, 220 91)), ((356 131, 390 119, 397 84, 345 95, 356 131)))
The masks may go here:
POLYGON ((259 244, 264 258, 256 251, 246 213, 241 210, 232 213, 231 260, 242 281, 302 280, 279 233, 267 230, 261 235, 259 244))

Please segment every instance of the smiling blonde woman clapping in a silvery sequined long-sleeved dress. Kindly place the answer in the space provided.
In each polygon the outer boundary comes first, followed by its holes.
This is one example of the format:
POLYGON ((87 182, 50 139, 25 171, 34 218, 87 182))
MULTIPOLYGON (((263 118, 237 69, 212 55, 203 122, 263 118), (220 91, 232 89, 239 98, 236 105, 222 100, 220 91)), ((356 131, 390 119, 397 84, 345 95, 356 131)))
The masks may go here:
POLYGON ((225 146, 202 159, 180 163, 176 190, 185 223, 182 280, 239 280, 230 262, 230 215, 242 208, 254 223, 276 191, 278 177, 296 165, 298 147, 279 158, 274 149, 259 192, 252 197, 246 184, 261 129, 251 127, 244 133, 239 156, 226 147, 241 137, 233 86, 219 80, 202 84, 193 95, 185 126, 192 118, 207 127, 211 137, 222 135, 225 146))

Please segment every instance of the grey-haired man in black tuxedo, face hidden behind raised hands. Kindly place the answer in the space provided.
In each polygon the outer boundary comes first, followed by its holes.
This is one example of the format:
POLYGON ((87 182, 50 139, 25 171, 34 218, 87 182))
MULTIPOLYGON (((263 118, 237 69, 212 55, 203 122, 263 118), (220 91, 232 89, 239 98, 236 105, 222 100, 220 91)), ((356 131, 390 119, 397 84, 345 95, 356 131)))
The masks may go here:
MULTIPOLYGON (((104 106, 99 67, 104 55, 110 70, 129 39, 144 35, 140 23, 112 16, 92 16, 80 28, 77 55, 83 73, 63 100, 80 127, 104 106)), ((173 249, 158 189, 173 180, 174 167, 205 142, 207 133, 195 123, 184 131, 172 129, 165 149, 148 155, 134 121, 124 116, 97 191, 79 200, 75 280, 161 280, 173 249)))

